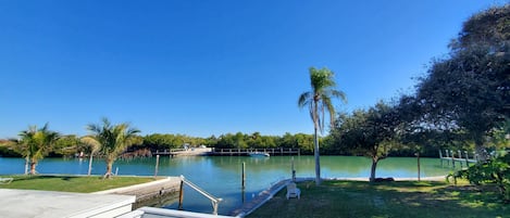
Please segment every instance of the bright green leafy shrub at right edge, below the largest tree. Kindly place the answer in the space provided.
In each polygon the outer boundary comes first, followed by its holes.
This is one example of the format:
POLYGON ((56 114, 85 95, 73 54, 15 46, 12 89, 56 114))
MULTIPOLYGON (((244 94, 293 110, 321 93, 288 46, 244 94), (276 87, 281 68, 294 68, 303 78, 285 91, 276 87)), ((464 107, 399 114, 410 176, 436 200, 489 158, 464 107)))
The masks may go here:
POLYGON ((510 154, 452 172, 448 178, 453 178, 456 183, 458 179, 468 179, 476 185, 496 184, 500 197, 510 203, 510 154))

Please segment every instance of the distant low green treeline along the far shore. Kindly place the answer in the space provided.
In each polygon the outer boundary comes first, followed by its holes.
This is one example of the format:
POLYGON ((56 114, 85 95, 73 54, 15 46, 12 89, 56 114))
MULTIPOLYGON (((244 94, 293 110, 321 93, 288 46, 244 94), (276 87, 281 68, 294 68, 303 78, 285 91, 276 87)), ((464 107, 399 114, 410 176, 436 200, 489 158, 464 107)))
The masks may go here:
MULTIPOLYGON (((139 143, 128 148, 129 152, 136 151, 156 151, 182 149, 184 145, 189 148, 198 148, 206 145, 208 148, 219 149, 300 149, 302 155, 313 154, 313 134, 306 133, 285 133, 284 136, 262 136, 254 133, 226 133, 219 137, 211 136, 208 138, 190 137, 185 134, 163 134, 154 133, 148 136, 139 136, 139 143)), ((343 149, 340 144, 335 143, 331 136, 320 139, 322 155, 352 155, 349 150, 343 149)), ((398 149, 389 151, 390 156, 413 156, 415 150, 412 146, 400 144, 398 149)), ((430 144, 423 151, 422 156, 437 157, 439 146, 430 144)), ((87 156, 90 152, 86 144, 79 141, 77 136, 63 136, 57 140, 49 152, 50 157, 73 157, 79 154, 87 156)), ((15 149, 9 140, 0 140, 0 156, 21 157, 21 153, 15 149)))

